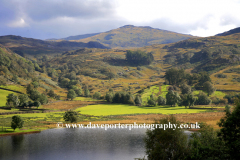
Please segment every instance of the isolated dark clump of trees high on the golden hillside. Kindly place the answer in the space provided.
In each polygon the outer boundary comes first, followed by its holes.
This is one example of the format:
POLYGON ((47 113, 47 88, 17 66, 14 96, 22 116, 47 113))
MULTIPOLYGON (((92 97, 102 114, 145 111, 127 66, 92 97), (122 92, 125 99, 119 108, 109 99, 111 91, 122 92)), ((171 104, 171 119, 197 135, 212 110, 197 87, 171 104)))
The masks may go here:
POLYGON ((154 57, 152 52, 146 53, 140 50, 127 50, 126 60, 132 65, 149 65, 154 61, 154 57))

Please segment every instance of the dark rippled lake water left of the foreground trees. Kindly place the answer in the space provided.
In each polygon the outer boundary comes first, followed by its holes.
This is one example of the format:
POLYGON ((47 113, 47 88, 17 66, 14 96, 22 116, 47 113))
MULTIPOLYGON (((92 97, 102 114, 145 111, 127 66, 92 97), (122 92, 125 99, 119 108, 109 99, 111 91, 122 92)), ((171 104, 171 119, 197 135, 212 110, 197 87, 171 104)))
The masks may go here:
POLYGON ((145 155, 146 129, 49 129, 0 137, 1 160, 134 160, 145 155))

